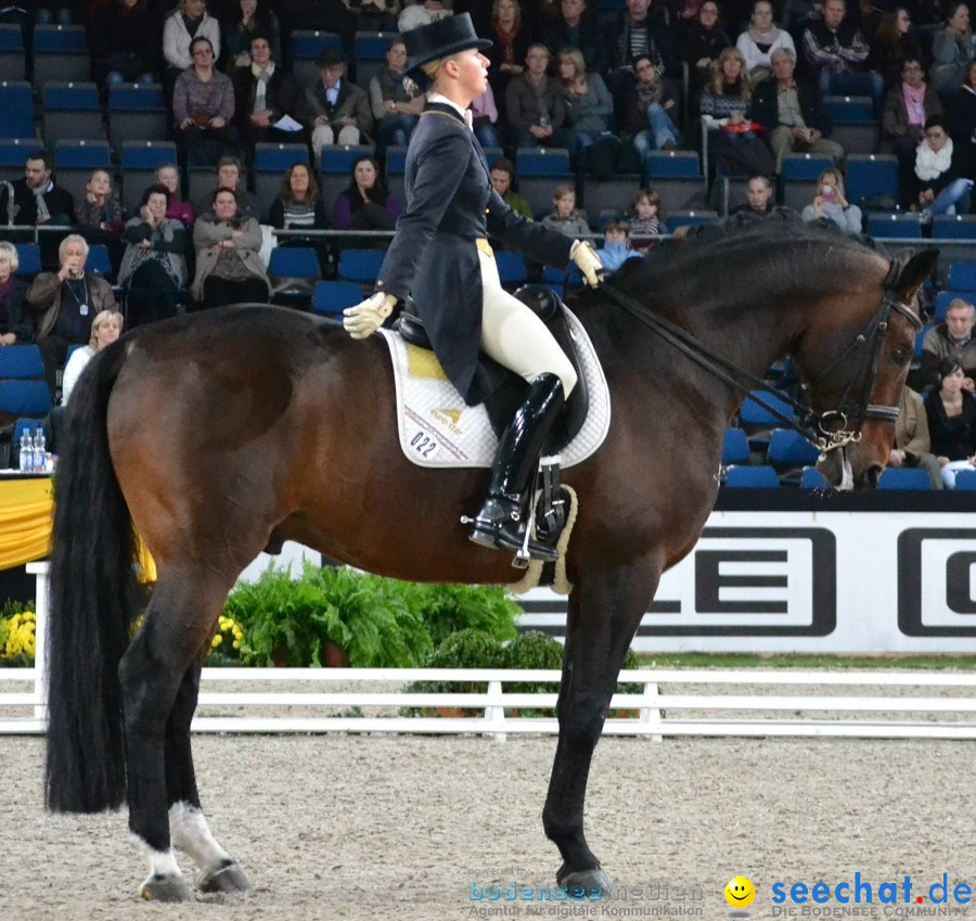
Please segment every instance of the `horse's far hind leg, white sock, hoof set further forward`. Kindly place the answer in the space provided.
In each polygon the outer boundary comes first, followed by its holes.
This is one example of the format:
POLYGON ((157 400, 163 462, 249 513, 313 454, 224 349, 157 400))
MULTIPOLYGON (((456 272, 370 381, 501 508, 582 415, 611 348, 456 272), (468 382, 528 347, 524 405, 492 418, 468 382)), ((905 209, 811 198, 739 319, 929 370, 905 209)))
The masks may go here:
POLYGON ((210 832, 196 790, 190 724, 200 695, 202 658, 183 675, 166 724, 166 792, 169 802, 169 836, 172 846, 188 854, 197 867, 201 892, 251 892, 251 883, 237 862, 210 832))

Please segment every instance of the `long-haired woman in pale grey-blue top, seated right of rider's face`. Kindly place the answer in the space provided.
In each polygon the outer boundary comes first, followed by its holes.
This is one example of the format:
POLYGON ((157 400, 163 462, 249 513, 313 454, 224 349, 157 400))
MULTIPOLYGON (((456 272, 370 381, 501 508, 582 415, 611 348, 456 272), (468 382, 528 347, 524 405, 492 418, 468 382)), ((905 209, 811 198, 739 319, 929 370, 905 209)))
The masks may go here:
POLYGON ((620 139, 611 130, 614 101, 603 78, 588 74, 582 53, 565 48, 558 54, 558 75, 563 84, 566 117, 576 133, 579 167, 601 179, 609 179, 620 161, 620 139))

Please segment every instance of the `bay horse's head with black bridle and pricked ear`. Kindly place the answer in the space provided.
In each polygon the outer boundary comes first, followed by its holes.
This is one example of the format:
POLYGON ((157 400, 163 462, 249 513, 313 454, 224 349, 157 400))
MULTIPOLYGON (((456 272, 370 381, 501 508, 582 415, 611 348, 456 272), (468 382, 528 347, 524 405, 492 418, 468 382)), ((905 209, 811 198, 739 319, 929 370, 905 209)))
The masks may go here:
POLYGON ((881 286, 855 280, 844 307, 808 331, 796 356, 823 439, 817 466, 837 489, 875 486, 887 464, 922 327, 917 293, 937 259, 937 250, 923 250, 892 261, 881 286))

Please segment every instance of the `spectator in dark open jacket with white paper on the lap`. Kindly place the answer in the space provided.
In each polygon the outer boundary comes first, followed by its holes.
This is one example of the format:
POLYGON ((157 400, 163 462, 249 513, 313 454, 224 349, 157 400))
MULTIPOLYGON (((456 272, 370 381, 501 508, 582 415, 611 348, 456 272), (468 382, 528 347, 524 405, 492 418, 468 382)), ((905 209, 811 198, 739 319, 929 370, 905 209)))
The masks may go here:
POLYGON ((256 33, 252 37, 251 64, 237 68, 233 82, 237 128, 248 156, 253 155, 255 144, 287 143, 301 137, 275 127, 285 115, 294 118, 298 84, 272 57, 271 43, 266 35, 256 33))

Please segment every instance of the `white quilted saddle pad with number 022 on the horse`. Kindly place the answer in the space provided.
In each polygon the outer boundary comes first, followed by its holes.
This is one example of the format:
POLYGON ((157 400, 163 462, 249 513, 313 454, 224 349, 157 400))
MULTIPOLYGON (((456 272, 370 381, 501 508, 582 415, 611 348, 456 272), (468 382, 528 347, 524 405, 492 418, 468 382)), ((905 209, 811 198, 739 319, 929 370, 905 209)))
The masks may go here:
MULTIPOLYGON (((603 444, 611 413, 609 392, 593 344, 569 310, 566 317, 580 355, 590 407, 582 428, 560 452, 563 468, 585 461, 603 444)), ((393 357, 403 453, 420 466, 491 466, 498 438, 485 407, 464 402, 433 351, 403 342, 391 330, 380 332, 393 357)))

